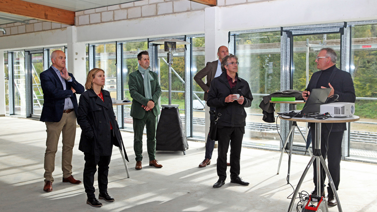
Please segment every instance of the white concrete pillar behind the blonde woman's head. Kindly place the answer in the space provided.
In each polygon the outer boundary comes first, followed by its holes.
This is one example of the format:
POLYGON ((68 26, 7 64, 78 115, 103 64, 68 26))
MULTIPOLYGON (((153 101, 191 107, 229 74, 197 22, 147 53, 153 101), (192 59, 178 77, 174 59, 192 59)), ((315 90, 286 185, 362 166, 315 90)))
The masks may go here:
POLYGON ((67 70, 76 80, 85 86, 86 82, 86 47, 85 43, 77 42, 76 26, 67 27, 67 70))

